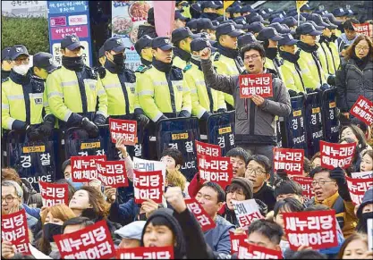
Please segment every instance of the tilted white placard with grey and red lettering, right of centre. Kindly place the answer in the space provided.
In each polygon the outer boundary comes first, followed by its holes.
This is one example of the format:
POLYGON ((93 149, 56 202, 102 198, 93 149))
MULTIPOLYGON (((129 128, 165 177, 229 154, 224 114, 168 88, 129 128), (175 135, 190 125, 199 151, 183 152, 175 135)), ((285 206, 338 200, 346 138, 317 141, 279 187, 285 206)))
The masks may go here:
POLYGON ((237 220, 240 223, 240 227, 247 229, 250 223, 264 217, 260 214, 259 207, 255 202, 255 199, 247 200, 232 200, 234 213, 236 214, 237 220))

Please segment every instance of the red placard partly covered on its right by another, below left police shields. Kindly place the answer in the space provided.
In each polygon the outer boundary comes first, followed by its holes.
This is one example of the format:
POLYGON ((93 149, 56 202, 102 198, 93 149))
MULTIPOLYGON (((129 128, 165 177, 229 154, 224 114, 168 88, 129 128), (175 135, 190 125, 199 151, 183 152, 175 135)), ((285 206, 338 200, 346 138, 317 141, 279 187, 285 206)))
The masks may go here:
POLYGON ((89 182, 97 179, 97 162, 105 162, 106 155, 72 156, 72 181, 89 182))

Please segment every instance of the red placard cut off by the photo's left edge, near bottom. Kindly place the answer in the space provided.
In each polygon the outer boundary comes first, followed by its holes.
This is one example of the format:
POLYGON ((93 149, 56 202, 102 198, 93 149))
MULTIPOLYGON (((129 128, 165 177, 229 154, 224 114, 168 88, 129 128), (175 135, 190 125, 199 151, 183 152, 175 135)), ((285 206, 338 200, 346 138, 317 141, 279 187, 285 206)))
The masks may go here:
POLYGON ((13 214, 3 214, 1 218, 1 239, 13 244, 14 253, 31 255, 25 210, 21 209, 13 214))

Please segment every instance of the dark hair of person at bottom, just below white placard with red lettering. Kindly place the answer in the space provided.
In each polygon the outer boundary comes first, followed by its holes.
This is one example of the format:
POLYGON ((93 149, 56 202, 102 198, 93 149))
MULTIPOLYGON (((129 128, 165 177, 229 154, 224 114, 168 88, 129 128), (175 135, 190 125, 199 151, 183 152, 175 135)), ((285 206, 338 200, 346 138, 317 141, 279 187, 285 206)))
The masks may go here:
POLYGON ((248 235, 250 236, 254 232, 259 232, 276 245, 280 244, 281 238, 284 236, 283 228, 279 224, 263 219, 251 222, 248 235))

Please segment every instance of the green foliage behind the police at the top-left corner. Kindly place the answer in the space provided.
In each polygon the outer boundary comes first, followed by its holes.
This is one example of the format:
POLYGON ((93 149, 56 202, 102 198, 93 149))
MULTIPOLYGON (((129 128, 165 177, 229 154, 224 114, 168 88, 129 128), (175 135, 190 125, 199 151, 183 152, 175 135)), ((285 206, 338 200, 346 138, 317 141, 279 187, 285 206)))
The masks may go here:
POLYGON ((48 21, 46 18, 13 18, 1 16, 1 48, 26 46, 30 55, 49 53, 48 21))

